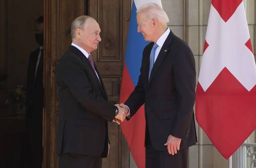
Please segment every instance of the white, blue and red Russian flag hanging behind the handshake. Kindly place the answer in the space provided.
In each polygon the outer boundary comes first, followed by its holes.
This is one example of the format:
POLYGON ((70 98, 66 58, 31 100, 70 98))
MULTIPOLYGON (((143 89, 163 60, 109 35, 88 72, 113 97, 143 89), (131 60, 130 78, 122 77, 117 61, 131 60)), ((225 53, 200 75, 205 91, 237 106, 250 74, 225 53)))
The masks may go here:
MULTIPOLYGON (((144 47, 149 43, 144 41, 141 33, 137 33, 136 11, 147 3, 156 3, 162 7, 161 0, 134 0, 131 13, 125 61, 123 65, 123 76, 120 91, 120 103, 126 101, 137 85, 140 75, 140 66, 144 47)), ((128 143, 132 156, 139 168, 145 167, 145 115, 144 106, 130 119, 124 121, 121 129, 128 143)))

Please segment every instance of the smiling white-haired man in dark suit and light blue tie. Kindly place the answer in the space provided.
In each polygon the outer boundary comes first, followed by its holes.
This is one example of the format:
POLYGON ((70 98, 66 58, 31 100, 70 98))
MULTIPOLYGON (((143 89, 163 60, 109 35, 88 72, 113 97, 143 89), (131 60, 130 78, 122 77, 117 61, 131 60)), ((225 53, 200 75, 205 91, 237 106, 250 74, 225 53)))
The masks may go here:
POLYGON ((138 32, 151 43, 143 51, 138 84, 120 106, 129 111, 129 120, 145 104, 146 168, 185 168, 188 147, 197 141, 194 56, 169 30, 159 5, 139 8, 137 22, 138 32))

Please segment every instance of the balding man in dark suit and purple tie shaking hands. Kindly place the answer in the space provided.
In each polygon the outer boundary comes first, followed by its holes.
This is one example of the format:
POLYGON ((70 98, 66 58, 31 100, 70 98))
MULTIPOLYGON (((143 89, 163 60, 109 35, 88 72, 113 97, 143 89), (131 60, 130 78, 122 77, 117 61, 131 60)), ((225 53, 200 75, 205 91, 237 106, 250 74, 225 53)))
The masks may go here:
POLYGON ((71 24, 72 44, 57 66, 59 122, 57 152, 60 168, 101 168, 108 156, 108 121, 123 121, 123 108, 111 105, 91 52, 101 41, 100 28, 90 16, 71 24))

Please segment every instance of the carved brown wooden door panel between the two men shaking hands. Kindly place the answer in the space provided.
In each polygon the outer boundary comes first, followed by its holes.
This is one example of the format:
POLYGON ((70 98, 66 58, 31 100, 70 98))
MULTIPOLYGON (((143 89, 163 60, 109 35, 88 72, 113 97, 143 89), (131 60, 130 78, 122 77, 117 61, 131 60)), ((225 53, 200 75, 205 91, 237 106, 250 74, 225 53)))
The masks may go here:
MULTIPOLYGON (((103 79, 111 102, 119 102, 120 83, 124 62, 126 36, 131 14, 130 0, 90 1, 89 15, 101 28, 99 48, 92 55, 103 79)), ((110 157, 103 159, 102 167, 129 167, 129 150, 116 124, 109 123, 110 157)))

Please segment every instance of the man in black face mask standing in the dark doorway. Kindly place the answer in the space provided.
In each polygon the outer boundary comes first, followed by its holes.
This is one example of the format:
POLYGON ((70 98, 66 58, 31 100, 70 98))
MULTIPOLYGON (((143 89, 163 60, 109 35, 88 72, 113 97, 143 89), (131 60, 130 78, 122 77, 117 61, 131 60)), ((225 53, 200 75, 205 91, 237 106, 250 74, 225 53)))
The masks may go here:
POLYGON ((44 63, 44 16, 35 22, 35 40, 39 48, 29 57, 27 74, 26 127, 29 138, 29 167, 42 167, 42 108, 44 89, 42 74, 44 63))

